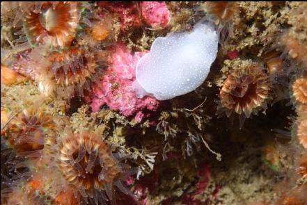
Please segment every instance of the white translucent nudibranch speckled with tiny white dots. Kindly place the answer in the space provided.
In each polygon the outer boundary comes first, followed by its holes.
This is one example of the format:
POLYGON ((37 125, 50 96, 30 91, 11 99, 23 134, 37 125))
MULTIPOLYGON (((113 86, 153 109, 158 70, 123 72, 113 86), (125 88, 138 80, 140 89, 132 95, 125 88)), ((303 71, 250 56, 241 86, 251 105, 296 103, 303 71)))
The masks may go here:
POLYGON ((137 97, 172 99, 198 88, 217 57, 219 38, 214 27, 200 22, 194 31, 156 38, 150 52, 136 65, 137 97))

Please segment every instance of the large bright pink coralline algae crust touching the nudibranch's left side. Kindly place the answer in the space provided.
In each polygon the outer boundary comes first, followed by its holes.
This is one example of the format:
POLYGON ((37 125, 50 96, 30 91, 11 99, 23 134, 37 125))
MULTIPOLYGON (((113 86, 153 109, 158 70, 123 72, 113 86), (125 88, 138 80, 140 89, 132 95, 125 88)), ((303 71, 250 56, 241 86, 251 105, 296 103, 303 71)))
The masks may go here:
POLYGON ((132 86, 135 80, 137 61, 144 53, 132 54, 123 44, 111 49, 111 66, 107 69, 100 83, 94 85, 86 101, 94 112, 107 105, 111 110, 119 111, 126 117, 134 115, 137 122, 146 117, 146 111, 156 111, 159 101, 153 97, 136 97, 132 86))

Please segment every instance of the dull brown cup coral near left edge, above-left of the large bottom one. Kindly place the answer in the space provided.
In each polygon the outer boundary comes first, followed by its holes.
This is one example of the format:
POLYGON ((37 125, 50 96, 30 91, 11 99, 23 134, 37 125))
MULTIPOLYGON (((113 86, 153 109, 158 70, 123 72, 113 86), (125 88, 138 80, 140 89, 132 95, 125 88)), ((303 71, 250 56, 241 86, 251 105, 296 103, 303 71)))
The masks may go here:
POLYGON ((28 108, 19 113, 8 125, 5 137, 17 153, 38 151, 54 142, 55 124, 41 110, 28 108))

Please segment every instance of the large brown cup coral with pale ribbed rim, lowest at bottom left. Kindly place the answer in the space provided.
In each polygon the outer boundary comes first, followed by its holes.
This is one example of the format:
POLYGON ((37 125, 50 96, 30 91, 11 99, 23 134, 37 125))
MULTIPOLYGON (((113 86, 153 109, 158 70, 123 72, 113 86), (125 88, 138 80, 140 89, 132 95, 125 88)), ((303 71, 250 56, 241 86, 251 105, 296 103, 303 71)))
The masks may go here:
POLYGON ((107 197, 112 200, 113 185, 126 194, 129 192, 120 182, 125 179, 127 167, 120 165, 95 133, 84 131, 67 136, 59 147, 58 167, 85 199, 89 196, 94 197, 95 202, 108 200, 107 197))

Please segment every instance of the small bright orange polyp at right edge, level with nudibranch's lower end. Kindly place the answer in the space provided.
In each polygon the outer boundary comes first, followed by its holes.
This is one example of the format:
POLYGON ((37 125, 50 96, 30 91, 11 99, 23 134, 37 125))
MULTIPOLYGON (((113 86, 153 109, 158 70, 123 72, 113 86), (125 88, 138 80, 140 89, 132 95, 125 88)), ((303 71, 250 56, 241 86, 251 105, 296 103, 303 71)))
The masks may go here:
POLYGON ((296 79, 292 85, 294 98, 302 104, 307 104, 307 77, 296 79))

